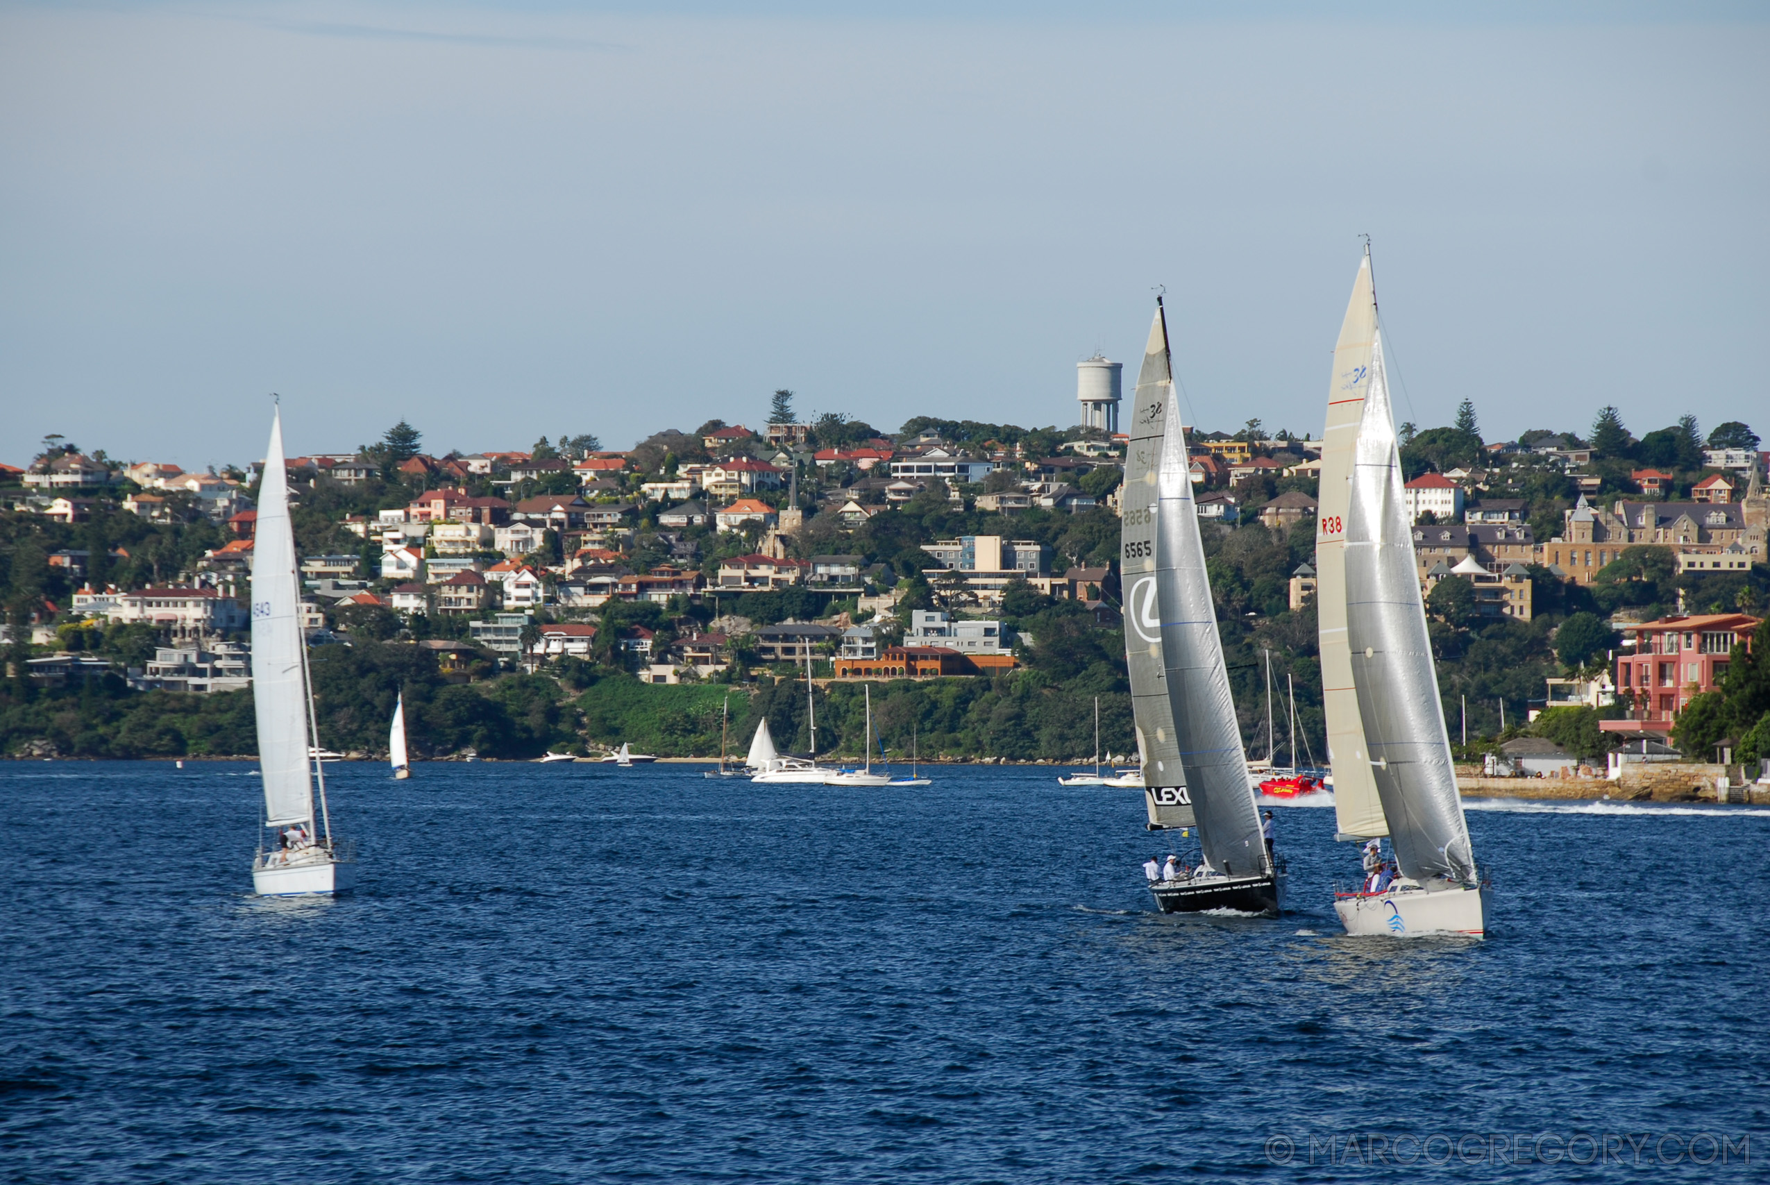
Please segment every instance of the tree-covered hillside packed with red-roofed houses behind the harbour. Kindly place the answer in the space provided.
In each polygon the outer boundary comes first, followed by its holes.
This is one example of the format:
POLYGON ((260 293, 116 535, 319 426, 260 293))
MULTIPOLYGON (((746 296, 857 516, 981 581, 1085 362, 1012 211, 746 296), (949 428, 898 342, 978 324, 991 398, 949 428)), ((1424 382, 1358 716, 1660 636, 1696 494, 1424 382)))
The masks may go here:
MULTIPOLYGON (((1099 698, 1103 746, 1126 753, 1126 438, 1115 409, 1085 411, 1071 429, 917 416, 883 432, 800 422, 779 391, 754 429, 710 420, 628 450, 582 434, 434 455, 402 422, 294 457, 326 744, 373 753, 404 691, 427 756, 623 740, 708 755, 722 710, 804 747, 791 680, 809 671, 828 687, 820 739, 850 753, 862 684, 894 749, 915 735, 936 756, 1074 760, 1099 698)), ((1400 434, 1446 717, 1469 755, 1535 733, 1582 762, 1650 740, 1770 756, 1770 705, 1728 687, 1770 602, 1766 453, 1745 423, 1634 436, 1605 407, 1581 432, 1485 441, 1464 404, 1450 427, 1400 434), (1643 659, 1666 647, 1708 657, 1643 659)), ((1297 746, 1324 762, 1320 441, 1250 420, 1195 430, 1191 452, 1244 739, 1274 744, 1271 668, 1294 687, 1297 746)), ((260 466, 186 473, 62 438, 0 466, 0 749, 253 751, 260 466)))

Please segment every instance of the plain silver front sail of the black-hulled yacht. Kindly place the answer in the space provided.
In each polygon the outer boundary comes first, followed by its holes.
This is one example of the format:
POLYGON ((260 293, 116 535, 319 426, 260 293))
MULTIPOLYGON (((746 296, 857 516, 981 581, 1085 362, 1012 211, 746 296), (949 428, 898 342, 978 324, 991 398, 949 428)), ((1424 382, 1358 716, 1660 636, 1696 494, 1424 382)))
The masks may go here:
POLYGON ((1174 400, 1168 326, 1161 303, 1149 328, 1143 370, 1136 379, 1138 416, 1161 402, 1161 452, 1156 461, 1156 611, 1174 739, 1186 788, 1198 817, 1205 861, 1230 877, 1267 871, 1260 813, 1248 783, 1235 700, 1223 666, 1198 507, 1186 455, 1186 429, 1174 400))

